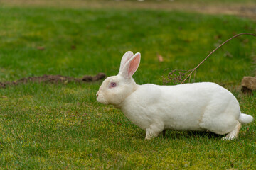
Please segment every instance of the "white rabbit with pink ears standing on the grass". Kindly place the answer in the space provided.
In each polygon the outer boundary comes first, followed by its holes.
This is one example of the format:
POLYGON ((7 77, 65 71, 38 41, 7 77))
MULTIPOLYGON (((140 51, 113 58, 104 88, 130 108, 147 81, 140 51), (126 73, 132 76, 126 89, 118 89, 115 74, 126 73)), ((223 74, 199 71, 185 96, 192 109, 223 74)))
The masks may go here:
POLYGON ((140 53, 126 52, 119 74, 103 81, 97 101, 120 108, 135 125, 146 130, 145 139, 163 130, 208 130, 238 137, 241 124, 252 122, 240 112, 233 94, 215 83, 203 82, 176 86, 138 85, 132 75, 139 67, 140 53))

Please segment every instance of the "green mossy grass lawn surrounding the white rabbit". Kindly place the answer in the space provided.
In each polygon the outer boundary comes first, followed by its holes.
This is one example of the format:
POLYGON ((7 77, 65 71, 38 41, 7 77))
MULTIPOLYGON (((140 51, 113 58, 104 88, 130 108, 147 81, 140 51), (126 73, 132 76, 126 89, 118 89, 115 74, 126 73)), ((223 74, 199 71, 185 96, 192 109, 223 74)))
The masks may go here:
MULTIPOLYGON (((163 84, 172 69, 192 69, 236 33, 256 33, 249 18, 121 8, 0 6, 0 81, 61 74, 117 74, 127 50, 142 53, 137 84, 163 84), (44 50, 38 50, 43 48, 44 50), (164 62, 159 62, 157 55, 164 62)), ((215 52, 191 81, 233 92, 256 118, 254 96, 239 89, 255 75, 256 38, 243 35, 215 52)), ((237 140, 210 132, 145 132, 95 100, 95 83, 28 83, 0 89, 0 169, 256 169, 255 121, 237 140)))

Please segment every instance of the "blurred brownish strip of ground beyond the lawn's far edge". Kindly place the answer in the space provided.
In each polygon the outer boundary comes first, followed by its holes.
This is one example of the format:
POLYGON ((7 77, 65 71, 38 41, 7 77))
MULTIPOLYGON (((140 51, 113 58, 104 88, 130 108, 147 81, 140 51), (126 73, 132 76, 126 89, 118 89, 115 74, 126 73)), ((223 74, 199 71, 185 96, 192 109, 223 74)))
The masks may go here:
POLYGON ((55 8, 144 8, 209 14, 236 15, 256 20, 256 3, 225 3, 221 1, 125 1, 125 0, 0 0, 11 6, 46 6, 55 8))

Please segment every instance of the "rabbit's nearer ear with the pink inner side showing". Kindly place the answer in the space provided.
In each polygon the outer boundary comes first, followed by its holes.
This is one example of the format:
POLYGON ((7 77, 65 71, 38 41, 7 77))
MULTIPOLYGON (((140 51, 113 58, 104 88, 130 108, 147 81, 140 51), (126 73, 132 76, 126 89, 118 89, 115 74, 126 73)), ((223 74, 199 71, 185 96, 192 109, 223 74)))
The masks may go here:
POLYGON ((131 78, 139 67, 140 56, 140 53, 137 52, 130 60, 126 62, 126 64, 124 64, 123 69, 119 73, 127 79, 131 78))

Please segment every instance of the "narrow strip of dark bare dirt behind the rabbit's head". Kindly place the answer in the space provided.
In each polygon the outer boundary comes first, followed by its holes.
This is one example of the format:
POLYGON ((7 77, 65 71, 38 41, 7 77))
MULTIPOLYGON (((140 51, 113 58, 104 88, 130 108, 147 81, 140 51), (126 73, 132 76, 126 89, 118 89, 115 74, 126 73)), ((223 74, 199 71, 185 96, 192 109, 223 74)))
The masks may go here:
POLYGON ((17 84, 26 84, 28 82, 49 82, 49 83, 63 83, 67 84, 68 82, 93 82, 93 81, 99 81, 101 79, 105 78, 104 73, 98 73, 96 76, 87 76, 85 75, 82 78, 75 78, 75 77, 65 77, 61 75, 43 75, 41 77, 24 77, 21 79, 18 79, 16 81, 6 81, 6 82, 0 82, 0 88, 5 88, 9 85, 17 85, 17 84))

